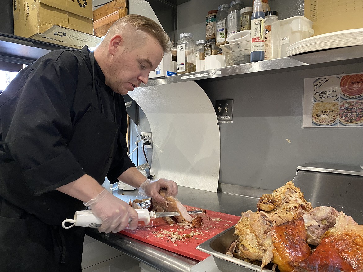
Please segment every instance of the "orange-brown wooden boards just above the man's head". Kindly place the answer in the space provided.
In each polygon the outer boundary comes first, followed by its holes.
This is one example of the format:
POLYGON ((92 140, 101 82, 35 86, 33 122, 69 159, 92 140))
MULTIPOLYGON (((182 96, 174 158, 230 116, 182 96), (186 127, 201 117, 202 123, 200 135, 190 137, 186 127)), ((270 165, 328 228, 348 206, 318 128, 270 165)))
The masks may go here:
POLYGON ((96 36, 105 36, 110 26, 127 15, 127 1, 114 0, 93 11, 93 28, 96 36))

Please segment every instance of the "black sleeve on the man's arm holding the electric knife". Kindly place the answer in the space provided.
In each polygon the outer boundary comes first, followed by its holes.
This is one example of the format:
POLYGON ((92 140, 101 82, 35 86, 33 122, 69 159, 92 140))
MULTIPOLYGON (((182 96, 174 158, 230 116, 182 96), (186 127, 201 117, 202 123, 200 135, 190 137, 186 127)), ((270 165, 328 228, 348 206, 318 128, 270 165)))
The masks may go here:
POLYGON ((72 136, 67 95, 76 90, 76 77, 78 65, 44 59, 30 71, 23 86, 16 86, 20 89, 7 101, 8 105, 16 104, 16 108, 4 146, 20 164, 34 195, 85 174, 67 147, 72 136))

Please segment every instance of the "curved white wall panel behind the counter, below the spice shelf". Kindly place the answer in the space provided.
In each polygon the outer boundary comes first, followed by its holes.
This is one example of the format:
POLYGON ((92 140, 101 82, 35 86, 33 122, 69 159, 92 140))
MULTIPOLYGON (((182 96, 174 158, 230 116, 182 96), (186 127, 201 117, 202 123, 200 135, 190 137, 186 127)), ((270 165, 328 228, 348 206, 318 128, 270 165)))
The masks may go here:
POLYGON ((150 123, 151 174, 181 186, 217 191, 220 136, 211 100, 194 82, 129 92, 150 123))

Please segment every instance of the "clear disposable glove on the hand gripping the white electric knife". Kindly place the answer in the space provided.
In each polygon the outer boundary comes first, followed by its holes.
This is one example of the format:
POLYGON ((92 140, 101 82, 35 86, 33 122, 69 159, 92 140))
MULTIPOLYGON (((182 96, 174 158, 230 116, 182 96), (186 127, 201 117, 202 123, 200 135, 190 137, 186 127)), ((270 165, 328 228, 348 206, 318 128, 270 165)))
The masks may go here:
POLYGON ((106 189, 103 189, 94 199, 87 203, 92 213, 102 220, 99 232, 119 232, 130 222, 130 229, 134 230, 138 225, 138 213, 125 201, 115 197, 106 189))

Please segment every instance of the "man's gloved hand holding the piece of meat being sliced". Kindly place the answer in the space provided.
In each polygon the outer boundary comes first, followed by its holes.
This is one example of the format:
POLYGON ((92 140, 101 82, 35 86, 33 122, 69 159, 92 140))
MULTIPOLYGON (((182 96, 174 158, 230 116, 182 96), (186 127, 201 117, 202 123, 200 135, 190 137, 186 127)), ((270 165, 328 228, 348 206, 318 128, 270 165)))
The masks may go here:
POLYGON ((165 202, 165 199, 159 194, 160 189, 166 188, 166 197, 178 194, 178 184, 172 180, 159 178, 159 180, 146 180, 139 187, 139 194, 144 197, 151 197, 158 202, 165 202))

